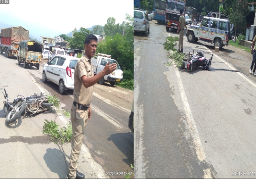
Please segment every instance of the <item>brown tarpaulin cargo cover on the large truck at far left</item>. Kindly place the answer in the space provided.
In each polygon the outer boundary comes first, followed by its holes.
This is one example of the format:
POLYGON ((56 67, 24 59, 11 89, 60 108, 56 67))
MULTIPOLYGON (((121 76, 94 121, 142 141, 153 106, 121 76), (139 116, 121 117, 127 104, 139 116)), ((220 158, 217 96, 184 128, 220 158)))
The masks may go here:
POLYGON ((29 39, 29 31, 21 26, 1 29, 2 37, 11 37, 11 43, 19 43, 29 39))

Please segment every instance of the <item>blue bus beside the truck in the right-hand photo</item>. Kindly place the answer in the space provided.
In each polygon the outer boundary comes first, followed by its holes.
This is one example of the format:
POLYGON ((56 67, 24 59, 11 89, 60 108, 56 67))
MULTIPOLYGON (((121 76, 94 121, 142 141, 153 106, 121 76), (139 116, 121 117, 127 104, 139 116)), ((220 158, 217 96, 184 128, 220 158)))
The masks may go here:
POLYGON ((165 22, 166 0, 154 0, 154 20, 165 22))

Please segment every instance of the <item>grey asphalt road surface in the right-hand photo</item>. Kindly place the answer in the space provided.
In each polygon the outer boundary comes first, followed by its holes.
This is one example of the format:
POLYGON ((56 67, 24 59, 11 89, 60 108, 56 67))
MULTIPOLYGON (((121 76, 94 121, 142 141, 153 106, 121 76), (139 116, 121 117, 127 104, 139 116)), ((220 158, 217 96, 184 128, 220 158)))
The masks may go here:
POLYGON ((184 37, 184 52, 214 54, 209 71, 184 71, 165 65, 170 35, 150 21, 134 37, 135 178, 256 178, 251 55, 184 37))

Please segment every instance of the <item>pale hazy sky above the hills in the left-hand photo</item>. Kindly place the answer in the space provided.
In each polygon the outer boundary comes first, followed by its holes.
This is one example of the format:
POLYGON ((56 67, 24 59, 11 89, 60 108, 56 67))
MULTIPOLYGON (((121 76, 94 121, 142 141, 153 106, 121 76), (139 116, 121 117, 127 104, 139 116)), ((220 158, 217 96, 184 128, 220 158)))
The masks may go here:
MULTIPOLYGON (((1 0, 0 0, 1 2, 1 0)), ((115 23, 133 16, 134 0, 9 0, 0 4, 0 23, 22 26, 35 38, 68 34, 75 28, 104 26, 108 17, 115 23)), ((37 39, 41 40, 41 39, 37 39)))

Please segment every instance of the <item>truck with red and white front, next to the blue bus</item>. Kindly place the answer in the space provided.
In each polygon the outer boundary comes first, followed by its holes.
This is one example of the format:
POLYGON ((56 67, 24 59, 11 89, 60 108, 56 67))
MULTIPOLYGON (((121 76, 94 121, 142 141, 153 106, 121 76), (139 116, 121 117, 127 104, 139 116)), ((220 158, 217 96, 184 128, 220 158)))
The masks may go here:
POLYGON ((178 29, 180 9, 183 10, 183 15, 185 16, 186 2, 184 0, 166 0, 166 3, 166 31, 169 31, 170 28, 178 29))

